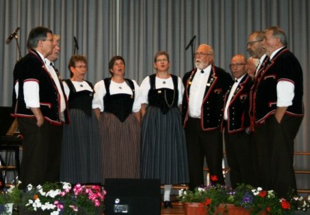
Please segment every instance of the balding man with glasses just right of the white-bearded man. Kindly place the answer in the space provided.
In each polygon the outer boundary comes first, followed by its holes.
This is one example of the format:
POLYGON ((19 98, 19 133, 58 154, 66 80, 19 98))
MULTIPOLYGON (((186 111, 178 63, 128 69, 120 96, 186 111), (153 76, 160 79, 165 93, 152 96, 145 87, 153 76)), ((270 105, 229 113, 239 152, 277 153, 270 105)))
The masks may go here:
POLYGON ((225 95, 224 142, 230 168, 231 186, 253 185, 253 147, 250 142, 250 88, 253 81, 246 73, 246 57, 231 58, 231 73, 235 81, 225 95))

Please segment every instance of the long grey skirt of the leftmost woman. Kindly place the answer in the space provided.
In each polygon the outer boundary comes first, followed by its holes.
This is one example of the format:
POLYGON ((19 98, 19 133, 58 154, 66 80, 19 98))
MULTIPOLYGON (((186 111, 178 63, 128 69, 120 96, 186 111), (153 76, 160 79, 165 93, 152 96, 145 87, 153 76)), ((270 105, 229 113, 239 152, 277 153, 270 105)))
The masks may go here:
POLYGON ((98 120, 82 110, 70 109, 64 125, 60 181, 71 184, 101 183, 101 144, 98 120))

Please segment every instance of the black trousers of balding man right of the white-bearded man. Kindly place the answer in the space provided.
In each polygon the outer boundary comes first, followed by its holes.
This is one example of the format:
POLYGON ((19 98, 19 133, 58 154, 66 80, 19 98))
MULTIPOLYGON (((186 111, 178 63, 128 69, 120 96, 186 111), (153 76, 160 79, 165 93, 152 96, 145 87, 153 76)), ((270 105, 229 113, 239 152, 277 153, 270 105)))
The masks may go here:
POLYGON ((231 186, 233 188, 236 188, 237 184, 250 184, 254 186, 253 147, 250 141, 250 134, 246 134, 246 131, 229 134, 225 127, 224 142, 227 163, 230 168, 231 186))

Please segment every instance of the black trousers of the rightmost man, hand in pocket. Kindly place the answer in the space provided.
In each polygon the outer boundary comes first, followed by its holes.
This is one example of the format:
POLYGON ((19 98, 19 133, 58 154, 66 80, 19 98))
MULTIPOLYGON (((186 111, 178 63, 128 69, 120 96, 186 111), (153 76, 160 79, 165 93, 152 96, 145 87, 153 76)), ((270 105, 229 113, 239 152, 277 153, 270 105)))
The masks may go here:
POLYGON ((257 125, 253 133, 258 186, 274 190, 279 197, 297 190, 294 139, 301 122, 302 118, 285 114, 278 123, 272 115, 264 124, 257 125))

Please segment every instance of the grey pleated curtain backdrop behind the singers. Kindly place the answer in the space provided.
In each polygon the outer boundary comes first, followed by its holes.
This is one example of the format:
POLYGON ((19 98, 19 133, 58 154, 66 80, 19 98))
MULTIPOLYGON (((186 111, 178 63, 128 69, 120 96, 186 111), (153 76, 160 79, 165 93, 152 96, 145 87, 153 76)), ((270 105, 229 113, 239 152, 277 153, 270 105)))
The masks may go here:
MULTIPOLYGON (((56 66, 63 78, 70 77, 67 63, 76 36, 77 53, 88 58, 88 81, 95 84, 108 77, 109 59, 118 54, 125 58, 126 77, 140 84, 155 72, 153 56, 159 50, 170 53, 170 72, 183 77, 192 69, 192 51, 185 51, 185 46, 196 36, 194 50, 201 43, 211 45, 215 64, 229 71, 233 55, 247 55, 251 31, 279 25, 304 71, 306 116, 296 138, 296 151, 310 151, 309 11, 308 0, 1 0, 0 105, 12 103, 18 51, 15 40, 5 45, 5 39, 16 27, 21 27, 17 35, 22 56, 27 53, 31 28, 44 25, 60 34, 62 50, 56 66)), ((310 157, 296 156, 295 167, 310 170, 310 157)), ((296 177, 298 188, 310 189, 310 175, 296 177)))

